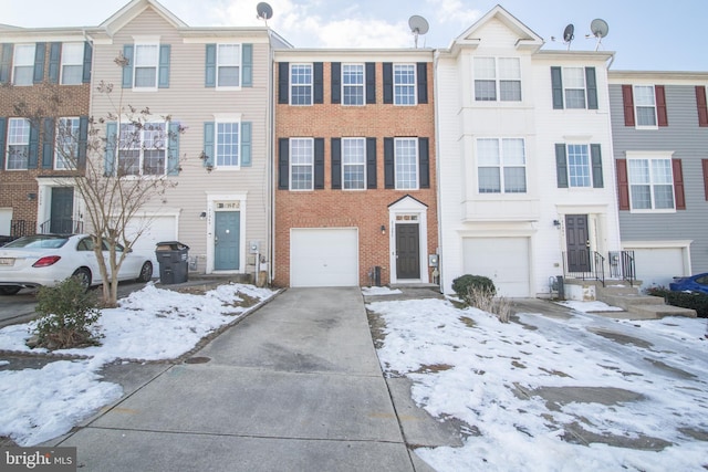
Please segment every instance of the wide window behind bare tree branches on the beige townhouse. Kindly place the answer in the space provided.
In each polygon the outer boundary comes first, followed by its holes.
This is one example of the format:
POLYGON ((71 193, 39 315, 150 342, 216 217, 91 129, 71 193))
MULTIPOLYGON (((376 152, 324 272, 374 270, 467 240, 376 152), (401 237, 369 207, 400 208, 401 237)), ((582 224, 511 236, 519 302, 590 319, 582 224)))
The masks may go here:
POLYGON ((163 176, 167 164, 165 123, 146 123, 142 128, 121 124, 118 172, 121 176, 163 176))

